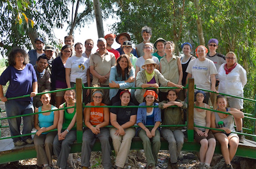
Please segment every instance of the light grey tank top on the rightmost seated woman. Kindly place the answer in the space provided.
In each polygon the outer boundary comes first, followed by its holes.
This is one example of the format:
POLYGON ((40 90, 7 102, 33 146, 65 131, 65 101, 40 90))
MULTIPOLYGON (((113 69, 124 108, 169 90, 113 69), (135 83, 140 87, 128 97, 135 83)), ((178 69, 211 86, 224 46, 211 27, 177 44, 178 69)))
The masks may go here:
MULTIPOLYGON (((230 107, 227 108, 228 111, 230 111, 230 107)), ((228 128, 230 131, 236 131, 232 115, 228 115, 225 119, 221 119, 217 112, 214 112, 214 115, 216 128, 228 128)))

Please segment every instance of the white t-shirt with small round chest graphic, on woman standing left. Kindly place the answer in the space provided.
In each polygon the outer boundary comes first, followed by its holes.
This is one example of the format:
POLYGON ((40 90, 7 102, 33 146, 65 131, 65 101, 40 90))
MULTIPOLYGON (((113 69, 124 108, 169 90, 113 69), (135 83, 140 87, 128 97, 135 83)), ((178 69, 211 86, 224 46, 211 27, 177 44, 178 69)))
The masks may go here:
POLYGON ((87 83, 87 70, 89 69, 89 59, 87 57, 69 57, 65 68, 70 68, 70 82, 76 83, 76 78, 82 78, 83 84, 87 83))

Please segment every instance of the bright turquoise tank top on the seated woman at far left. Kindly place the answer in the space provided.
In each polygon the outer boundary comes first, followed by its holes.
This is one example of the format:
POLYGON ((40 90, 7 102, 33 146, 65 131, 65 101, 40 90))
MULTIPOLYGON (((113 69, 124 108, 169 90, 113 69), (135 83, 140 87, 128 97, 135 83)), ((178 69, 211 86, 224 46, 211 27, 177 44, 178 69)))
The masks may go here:
MULTIPOLYGON (((54 106, 51 106, 51 110, 55 108, 54 106)), ((38 107, 38 112, 42 112, 42 107, 38 107)), ((54 122, 54 111, 51 112, 49 115, 43 115, 38 114, 38 123, 40 128, 48 128, 49 126, 52 126, 54 122)), ((49 132, 47 132, 49 133, 49 132)), ((47 133, 42 133, 43 135, 47 133)))

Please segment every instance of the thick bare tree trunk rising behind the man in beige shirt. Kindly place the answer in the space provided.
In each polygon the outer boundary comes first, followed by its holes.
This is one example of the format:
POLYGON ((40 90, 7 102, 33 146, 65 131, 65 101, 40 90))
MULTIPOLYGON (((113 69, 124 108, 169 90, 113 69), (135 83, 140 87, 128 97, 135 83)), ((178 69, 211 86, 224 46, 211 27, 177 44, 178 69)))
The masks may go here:
POLYGON ((94 7, 94 12, 95 12, 98 36, 99 36, 99 38, 103 38, 104 37, 104 29, 103 29, 102 15, 101 15, 101 10, 100 10, 100 1, 93 0, 93 7, 94 7))

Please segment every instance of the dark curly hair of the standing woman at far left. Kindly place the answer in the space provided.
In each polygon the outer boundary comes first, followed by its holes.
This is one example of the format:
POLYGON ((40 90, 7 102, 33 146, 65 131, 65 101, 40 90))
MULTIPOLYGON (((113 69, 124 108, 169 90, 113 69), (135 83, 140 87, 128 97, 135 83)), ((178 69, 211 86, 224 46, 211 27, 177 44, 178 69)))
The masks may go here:
POLYGON ((8 55, 8 62, 10 66, 15 66, 15 57, 17 54, 21 54, 24 57, 23 64, 26 65, 29 63, 29 56, 25 50, 23 50, 22 48, 13 48, 13 50, 8 55))

